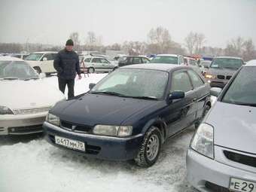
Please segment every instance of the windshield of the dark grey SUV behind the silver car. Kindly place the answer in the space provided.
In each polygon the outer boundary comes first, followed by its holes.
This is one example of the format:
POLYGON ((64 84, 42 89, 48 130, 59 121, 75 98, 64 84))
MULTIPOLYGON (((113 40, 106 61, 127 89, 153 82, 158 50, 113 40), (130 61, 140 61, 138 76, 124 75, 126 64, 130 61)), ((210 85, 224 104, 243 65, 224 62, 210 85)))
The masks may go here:
POLYGON ((239 69, 242 66, 241 59, 216 58, 212 61, 211 68, 239 69))

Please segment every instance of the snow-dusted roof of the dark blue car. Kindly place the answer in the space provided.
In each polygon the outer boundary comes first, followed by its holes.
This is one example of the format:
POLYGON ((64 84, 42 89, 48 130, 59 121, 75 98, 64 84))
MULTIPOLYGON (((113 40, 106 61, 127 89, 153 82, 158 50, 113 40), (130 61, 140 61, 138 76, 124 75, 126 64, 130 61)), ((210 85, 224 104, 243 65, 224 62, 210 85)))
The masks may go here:
POLYGON ((136 64, 130 66, 123 66, 121 69, 152 69, 170 72, 172 69, 191 69, 188 66, 181 66, 175 64, 166 64, 166 63, 147 63, 147 64, 136 64))

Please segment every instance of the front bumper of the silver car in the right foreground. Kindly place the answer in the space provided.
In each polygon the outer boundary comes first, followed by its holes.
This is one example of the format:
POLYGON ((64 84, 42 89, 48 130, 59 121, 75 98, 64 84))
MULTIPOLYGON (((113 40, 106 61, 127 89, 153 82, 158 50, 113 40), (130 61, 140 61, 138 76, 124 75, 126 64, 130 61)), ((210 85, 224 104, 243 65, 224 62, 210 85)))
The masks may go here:
POLYGON ((219 163, 197 153, 191 148, 188 149, 187 180, 195 188, 207 192, 229 191, 230 177, 256 181, 256 174, 254 172, 219 163))

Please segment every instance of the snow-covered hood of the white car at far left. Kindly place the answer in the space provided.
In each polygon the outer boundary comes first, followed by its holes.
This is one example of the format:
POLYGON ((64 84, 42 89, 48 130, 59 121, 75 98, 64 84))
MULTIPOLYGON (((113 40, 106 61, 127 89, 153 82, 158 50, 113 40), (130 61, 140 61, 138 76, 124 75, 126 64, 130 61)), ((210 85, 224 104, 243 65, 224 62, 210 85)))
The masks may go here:
POLYGON ((65 96, 41 79, 0 81, 0 105, 11 109, 41 108, 55 105, 65 96))

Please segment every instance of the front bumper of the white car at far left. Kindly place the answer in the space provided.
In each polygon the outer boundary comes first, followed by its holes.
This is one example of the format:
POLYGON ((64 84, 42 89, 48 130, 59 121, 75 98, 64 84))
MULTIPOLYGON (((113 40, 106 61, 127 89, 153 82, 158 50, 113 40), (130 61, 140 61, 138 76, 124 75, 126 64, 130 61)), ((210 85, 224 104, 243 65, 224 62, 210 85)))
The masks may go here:
POLYGON ((46 112, 37 114, 4 114, 0 116, 0 135, 24 135, 43 131, 46 112))

